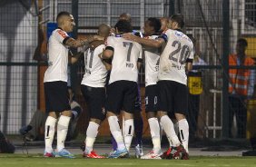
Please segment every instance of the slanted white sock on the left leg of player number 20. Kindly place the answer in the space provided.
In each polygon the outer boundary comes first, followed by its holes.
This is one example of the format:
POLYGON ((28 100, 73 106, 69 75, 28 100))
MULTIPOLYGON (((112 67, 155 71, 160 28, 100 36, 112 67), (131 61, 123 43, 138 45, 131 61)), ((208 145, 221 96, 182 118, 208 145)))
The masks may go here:
POLYGON ((167 115, 164 115, 161 117, 160 122, 162 124, 162 129, 166 133, 166 136, 170 142, 170 146, 172 146, 172 144, 174 146, 179 146, 181 142, 174 131, 172 120, 167 115))

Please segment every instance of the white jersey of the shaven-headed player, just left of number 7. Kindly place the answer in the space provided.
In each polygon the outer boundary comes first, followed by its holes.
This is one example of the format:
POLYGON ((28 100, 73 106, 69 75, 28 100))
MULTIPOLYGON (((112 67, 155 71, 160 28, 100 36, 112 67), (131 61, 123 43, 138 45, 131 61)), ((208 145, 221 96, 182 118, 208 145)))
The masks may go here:
POLYGON ((88 49, 84 52, 84 77, 81 84, 91 87, 104 87, 107 70, 98 56, 103 52, 104 44, 97 46, 94 50, 88 49))

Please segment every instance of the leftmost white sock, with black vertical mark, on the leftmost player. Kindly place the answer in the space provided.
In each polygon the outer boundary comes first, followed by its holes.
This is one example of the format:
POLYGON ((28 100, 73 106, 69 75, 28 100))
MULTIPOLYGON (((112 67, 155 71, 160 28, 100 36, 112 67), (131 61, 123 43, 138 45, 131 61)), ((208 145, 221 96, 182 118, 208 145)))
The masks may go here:
POLYGON ((46 119, 44 130, 45 152, 53 152, 53 141, 56 121, 57 120, 52 116, 48 116, 46 119))

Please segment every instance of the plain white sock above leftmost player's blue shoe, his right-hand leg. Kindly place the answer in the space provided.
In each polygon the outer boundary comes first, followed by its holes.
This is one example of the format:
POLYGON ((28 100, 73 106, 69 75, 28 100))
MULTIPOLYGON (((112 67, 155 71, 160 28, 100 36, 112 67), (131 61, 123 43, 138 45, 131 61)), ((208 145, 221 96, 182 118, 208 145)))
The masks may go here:
POLYGON ((64 149, 64 141, 66 138, 68 124, 70 122, 69 116, 61 115, 57 126, 57 151, 64 149))

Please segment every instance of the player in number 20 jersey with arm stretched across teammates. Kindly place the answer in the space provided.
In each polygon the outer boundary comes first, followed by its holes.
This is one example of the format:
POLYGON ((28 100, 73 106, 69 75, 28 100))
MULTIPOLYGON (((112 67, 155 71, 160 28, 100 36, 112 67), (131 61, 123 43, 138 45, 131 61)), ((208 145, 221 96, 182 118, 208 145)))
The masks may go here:
POLYGON ((191 39, 182 33, 184 25, 183 16, 176 14, 170 18, 170 28, 157 39, 143 39, 133 34, 124 34, 125 39, 133 40, 140 44, 161 47, 166 44, 160 57, 158 74, 159 110, 157 112, 163 131, 166 133, 170 148, 163 154, 163 158, 188 159, 189 125, 186 120, 188 112, 188 90, 186 71, 192 69, 193 44, 191 39), (179 141, 174 131, 172 120, 167 113, 176 118, 182 141, 179 141), (173 147, 171 147, 173 145, 173 147))

